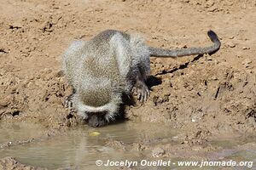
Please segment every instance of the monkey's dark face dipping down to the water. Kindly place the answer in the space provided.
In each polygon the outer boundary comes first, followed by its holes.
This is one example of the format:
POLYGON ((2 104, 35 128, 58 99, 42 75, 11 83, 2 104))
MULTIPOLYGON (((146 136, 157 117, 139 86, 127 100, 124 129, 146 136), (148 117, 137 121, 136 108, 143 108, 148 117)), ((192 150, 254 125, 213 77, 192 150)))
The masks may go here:
POLYGON ((86 121, 90 127, 102 127, 108 124, 108 121, 105 118, 106 114, 106 111, 87 113, 86 121))

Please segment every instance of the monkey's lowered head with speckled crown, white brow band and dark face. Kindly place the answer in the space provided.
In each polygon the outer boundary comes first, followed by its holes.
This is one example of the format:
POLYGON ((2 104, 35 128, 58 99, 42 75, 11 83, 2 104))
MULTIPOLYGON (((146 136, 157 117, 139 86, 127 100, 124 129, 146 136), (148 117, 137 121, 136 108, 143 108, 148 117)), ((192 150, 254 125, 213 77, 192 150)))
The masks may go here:
POLYGON ((90 126, 101 127, 113 121, 122 103, 122 89, 108 77, 87 77, 74 94, 79 116, 90 126))

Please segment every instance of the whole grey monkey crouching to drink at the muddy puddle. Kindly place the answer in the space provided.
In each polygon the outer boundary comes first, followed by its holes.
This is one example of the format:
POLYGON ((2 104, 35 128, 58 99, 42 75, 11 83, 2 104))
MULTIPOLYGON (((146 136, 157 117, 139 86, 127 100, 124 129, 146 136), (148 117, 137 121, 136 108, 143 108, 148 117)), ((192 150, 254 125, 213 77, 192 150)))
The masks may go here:
POLYGON ((102 31, 89 41, 77 40, 62 54, 63 72, 73 88, 65 105, 73 105, 91 127, 106 125, 118 115, 123 94, 137 94, 142 102, 148 99, 150 56, 213 54, 221 42, 214 31, 207 35, 211 46, 179 49, 150 47, 140 36, 115 30, 102 31))

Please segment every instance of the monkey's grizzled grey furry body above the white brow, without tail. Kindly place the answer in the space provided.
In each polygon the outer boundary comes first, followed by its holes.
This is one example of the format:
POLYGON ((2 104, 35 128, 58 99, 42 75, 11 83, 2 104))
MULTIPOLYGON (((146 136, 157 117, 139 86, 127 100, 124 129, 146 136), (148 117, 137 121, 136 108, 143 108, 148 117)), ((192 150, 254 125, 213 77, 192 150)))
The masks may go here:
POLYGON ((113 30, 102 31, 89 42, 73 42, 63 60, 65 74, 79 100, 90 106, 105 105, 114 96, 130 93, 137 65, 149 66, 142 38, 113 30))

